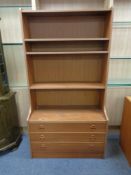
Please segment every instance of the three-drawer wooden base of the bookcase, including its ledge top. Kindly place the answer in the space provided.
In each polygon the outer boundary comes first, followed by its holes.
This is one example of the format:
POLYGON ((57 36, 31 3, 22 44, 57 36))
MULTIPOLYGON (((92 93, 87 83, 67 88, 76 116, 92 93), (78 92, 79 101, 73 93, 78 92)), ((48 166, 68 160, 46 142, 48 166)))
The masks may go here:
POLYGON ((81 110, 77 116, 73 110, 62 113, 65 117, 57 110, 31 114, 28 125, 32 157, 103 157, 107 121, 102 112, 95 112, 98 121, 91 121, 94 111, 81 110), (57 118, 52 118, 56 113, 57 118))

